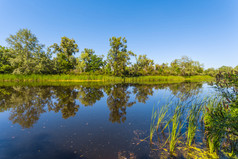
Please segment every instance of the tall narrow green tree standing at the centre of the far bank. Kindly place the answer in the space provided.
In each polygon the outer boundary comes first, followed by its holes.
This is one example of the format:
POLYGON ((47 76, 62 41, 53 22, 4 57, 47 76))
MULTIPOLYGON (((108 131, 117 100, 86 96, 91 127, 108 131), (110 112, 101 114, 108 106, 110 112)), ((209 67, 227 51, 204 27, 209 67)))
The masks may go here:
POLYGON ((135 54, 127 51, 126 38, 112 37, 109 39, 111 49, 108 52, 108 65, 116 76, 124 76, 126 74, 126 67, 130 65, 130 56, 135 54))

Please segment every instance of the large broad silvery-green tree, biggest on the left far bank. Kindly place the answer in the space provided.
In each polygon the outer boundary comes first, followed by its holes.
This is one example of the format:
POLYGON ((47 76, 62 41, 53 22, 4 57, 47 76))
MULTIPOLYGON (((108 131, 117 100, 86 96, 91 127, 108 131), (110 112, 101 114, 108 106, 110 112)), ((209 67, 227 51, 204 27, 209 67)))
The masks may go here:
POLYGON ((10 45, 9 60, 14 68, 14 74, 41 73, 41 70, 45 69, 41 60, 41 57, 47 57, 42 50, 44 45, 39 44, 37 37, 30 30, 20 29, 16 35, 10 35, 6 41, 10 45))

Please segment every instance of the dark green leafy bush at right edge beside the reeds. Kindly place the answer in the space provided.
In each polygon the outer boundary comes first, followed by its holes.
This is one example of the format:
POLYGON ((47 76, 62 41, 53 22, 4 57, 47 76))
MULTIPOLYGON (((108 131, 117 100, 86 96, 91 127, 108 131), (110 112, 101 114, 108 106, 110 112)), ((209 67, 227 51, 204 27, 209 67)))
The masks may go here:
POLYGON ((204 121, 211 152, 238 152, 238 74, 219 73, 216 85, 221 93, 206 106, 204 121))

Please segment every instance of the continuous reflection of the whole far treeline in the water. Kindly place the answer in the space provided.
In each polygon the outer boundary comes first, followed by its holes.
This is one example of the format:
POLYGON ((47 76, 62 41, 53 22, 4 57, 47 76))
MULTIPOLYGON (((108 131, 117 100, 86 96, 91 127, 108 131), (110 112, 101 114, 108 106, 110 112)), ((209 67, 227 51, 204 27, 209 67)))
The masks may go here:
POLYGON ((154 90, 168 88, 173 95, 186 100, 197 95, 202 83, 179 84, 113 84, 102 86, 1 86, 0 112, 10 111, 9 119, 30 128, 47 111, 61 112, 62 118, 73 117, 80 106, 93 106, 106 96, 109 120, 122 123, 126 109, 136 102, 146 103, 154 90), (129 89, 131 87, 132 89, 129 89), (135 98, 132 99, 131 96, 135 98))

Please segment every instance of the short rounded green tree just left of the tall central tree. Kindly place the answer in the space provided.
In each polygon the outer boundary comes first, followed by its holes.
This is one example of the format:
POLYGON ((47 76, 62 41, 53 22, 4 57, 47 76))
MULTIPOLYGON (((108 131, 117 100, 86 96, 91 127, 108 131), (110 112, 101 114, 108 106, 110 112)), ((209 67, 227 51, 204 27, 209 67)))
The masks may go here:
POLYGON ((92 49, 84 49, 78 59, 78 69, 80 72, 98 71, 105 65, 103 56, 95 55, 92 49))

